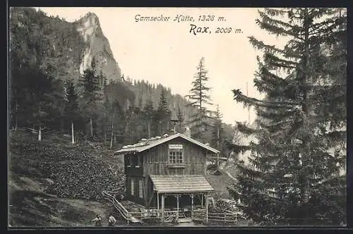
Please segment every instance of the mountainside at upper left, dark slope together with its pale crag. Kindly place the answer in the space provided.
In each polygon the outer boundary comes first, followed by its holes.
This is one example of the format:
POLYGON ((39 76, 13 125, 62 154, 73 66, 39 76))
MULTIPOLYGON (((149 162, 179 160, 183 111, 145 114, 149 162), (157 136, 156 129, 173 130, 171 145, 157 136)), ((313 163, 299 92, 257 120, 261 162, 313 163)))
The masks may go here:
POLYGON ((39 63, 44 70, 55 68, 51 73, 60 80, 78 80, 95 58, 96 73, 108 82, 121 82, 120 68, 94 13, 70 23, 34 8, 11 8, 10 50, 22 63, 39 63))

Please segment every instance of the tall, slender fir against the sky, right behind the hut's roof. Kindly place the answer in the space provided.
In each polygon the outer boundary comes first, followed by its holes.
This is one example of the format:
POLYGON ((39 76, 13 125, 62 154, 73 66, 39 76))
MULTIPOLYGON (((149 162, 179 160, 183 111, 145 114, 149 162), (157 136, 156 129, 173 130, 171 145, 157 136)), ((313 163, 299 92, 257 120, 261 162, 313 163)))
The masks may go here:
POLYGON ((186 95, 189 97, 190 103, 186 106, 196 107, 196 113, 191 116, 190 124, 193 125, 192 137, 198 140, 202 140, 202 135, 208 127, 210 127, 208 119, 210 118, 208 113, 210 111, 206 105, 211 104, 210 92, 211 88, 207 86, 208 70, 205 68, 205 58, 201 58, 198 66, 197 73, 194 75, 195 80, 193 80, 190 94, 186 95))

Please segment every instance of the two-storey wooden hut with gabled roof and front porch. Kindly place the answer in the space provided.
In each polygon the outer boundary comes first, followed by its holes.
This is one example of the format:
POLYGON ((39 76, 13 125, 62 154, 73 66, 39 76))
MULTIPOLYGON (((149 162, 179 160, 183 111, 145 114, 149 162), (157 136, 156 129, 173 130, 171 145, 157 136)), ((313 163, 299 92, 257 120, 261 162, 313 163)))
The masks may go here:
MULTIPOLYGON (((206 154, 218 154, 206 144, 176 133, 140 140, 115 152, 124 154, 126 198, 148 209, 192 212, 208 207, 214 189, 205 179, 206 154)), ((207 221, 207 210, 205 216, 207 221)))

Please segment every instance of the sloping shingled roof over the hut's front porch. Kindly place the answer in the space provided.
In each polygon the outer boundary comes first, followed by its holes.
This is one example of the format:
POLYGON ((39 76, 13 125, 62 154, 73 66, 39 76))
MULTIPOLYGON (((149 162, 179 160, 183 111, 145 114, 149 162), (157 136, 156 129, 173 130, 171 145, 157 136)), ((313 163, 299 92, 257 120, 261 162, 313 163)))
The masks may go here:
POLYGON ((214 189, 203 176, 150 176, 159 193, 200 193, 214 189))

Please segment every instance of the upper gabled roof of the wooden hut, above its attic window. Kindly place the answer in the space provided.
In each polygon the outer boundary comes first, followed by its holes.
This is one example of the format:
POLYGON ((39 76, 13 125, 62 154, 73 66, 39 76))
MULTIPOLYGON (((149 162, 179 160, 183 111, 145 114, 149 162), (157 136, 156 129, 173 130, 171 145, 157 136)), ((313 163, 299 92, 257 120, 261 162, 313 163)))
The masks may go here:
POLYGON ((143 152, 147 149, 150 149, 152 147, 157 146, 158 144, 168 142, 169 140, 173 140, 177 137, 181 137, 189 142, 192 142, 193 144, 197 144, 198 146, 203 147, 204 149, 207 149, 208 151, 213 152, 215 154, 219 153, 219 151, 217 149, 213 149, 212 147, 209 147, 208 145, 203 144, 201 142, 198 142, 197 140, 194 140, 191 137, 187 137, 186 135, 183 135, 181 133, 176 133, 176 134, 170 135, 170 136, 168 135, 165 137, 157 137, 157 139, 144 140, 144 141, 141 141, 137 144, 127 145, 127 146, 123 147, 122 149, 119 149, 118 151, 116 151, 114 153, 114 155, 124 154, 124 153, 128 153, 128 152, 143 152))

